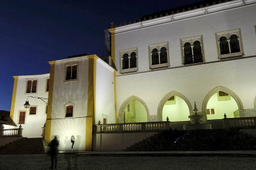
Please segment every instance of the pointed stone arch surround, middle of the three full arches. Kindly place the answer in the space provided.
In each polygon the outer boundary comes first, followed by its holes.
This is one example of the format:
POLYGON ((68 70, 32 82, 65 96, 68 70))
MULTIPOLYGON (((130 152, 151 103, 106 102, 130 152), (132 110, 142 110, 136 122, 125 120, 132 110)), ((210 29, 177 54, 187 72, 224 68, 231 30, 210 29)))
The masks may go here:
POLYGON ((188 108, 189 108, 189 115, 193 115, 193 109, 192 109, 192 106, 191 106, 191 103, 189 102, 189 100, 187 99, 187 97, 185 97, 183 94, 180 94, 179 92, 175 92, 175 91, 172 91, 172 92, 169 92, 168 94, 166 94, 163 99, 161 99, 159 105, 158 105, 158 108, 157 108, 157 115, 162 118, 162 115, 163 115, 163 107, 164 107, 164 104, 166 103, 166 101, 172 97, 172 96, 178 96, 180 97, 181 99, 183 99, 186 104, 188 105, 188 108))

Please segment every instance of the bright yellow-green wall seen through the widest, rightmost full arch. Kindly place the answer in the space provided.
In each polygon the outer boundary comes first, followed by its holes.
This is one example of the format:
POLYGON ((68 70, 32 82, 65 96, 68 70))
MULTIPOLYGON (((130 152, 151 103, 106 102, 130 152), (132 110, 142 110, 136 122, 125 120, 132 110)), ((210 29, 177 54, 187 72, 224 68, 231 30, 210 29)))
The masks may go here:
MULTIPOLYGON (((216 92, 209 99, 207 103, 207 109, 209 109, 210 115, 207 115, 207 119, 221 119, 226 113, 227 118, 234 118, 234 112, 238 110, 236 101, 230 96, 230 100, 219 101, 218 92, 216 92), (212 115, 211 109, 214 109, 214 115, 212 115)), ((238 116, 236 116, 238 117, 238 116)))

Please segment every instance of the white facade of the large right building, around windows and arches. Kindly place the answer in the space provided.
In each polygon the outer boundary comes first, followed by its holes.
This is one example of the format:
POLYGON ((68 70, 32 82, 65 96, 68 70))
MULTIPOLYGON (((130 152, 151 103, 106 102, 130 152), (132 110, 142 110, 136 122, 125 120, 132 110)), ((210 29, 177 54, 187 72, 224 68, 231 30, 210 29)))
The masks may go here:
POLYGON ((205 97, 212 89, 223 87, 232 90, 241 100, 239 108, 241 117, 255 116, 256 89, 253 84, 256 83, 254 74, 256 1, 245 1, 245 3, 244 6, 243 1, 230 1, 209 6, 207 12, 206 8, 201 8, 116 27, 115 63, 117 68, 120 67, 120 50, 138 48, 138 71, 118 72, 116 76, 118 113, 122 113, 120 108, 125 99, 137 96, 147 104, 148 121, 162 120, 161 111, 159 111, 163 109, 159 108, 161 100, 166 94, 174 91, 185 96, 191 106, 196 102, 198 112, 205 115, 205 97), (243 39, 240 38, 239 41, 243 43, 244 55, 234 60, 218 59, 216 32, 233 29, 241 30, 243 39), (202 36, 205 61, 184 65, 180 41, 194 36, 202 36), (162 42, 168 42, 170 66, 150 69, 149 46, 162 42), (243 110, 250 110, 250 113, 243 110))

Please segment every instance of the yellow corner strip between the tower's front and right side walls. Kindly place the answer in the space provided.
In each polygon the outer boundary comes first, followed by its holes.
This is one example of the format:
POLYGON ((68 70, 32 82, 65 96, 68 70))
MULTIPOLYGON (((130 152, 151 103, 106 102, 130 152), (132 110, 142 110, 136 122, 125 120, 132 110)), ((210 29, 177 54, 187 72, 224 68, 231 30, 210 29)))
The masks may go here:
POLYGON ((87 98, 87 117, 85 131, 85 150, 92 150, 92 125, 95 124, 95 94, 96 94, 96 64, 97 55, 90 55, 88 68, 88 98, 87 98))

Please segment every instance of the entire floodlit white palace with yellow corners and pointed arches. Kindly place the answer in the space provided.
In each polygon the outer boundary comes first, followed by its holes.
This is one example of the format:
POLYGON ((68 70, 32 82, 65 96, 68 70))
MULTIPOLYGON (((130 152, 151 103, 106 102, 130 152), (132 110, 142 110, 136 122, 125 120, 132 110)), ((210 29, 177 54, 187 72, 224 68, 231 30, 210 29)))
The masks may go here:
POLYGON ((195 103, 210 129, 224 114, 256 117, 255 16, 255 0, 204 1, 111 24, 109 57, 76 55, 49 61, 48 74, 13 76, 10 117, 24 137, 58 136, 60 151, 71 136, 77 151, 123 150, 154 132, 117 125, 155 128, 168 117, 182 127, 195 103))

